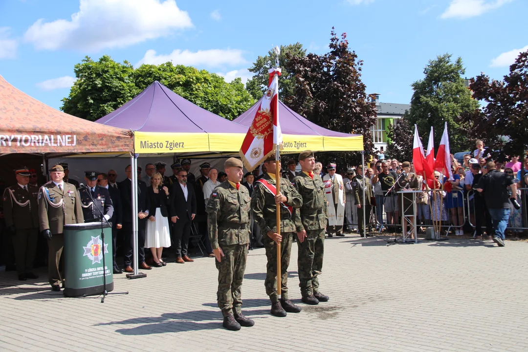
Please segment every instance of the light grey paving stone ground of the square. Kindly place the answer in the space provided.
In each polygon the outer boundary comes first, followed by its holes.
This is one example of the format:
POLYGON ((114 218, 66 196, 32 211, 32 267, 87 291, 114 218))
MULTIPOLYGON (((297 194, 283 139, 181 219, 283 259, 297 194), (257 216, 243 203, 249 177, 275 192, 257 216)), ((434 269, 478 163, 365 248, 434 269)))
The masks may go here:
POLYGON ((0 272, 2 351, 527 351, 528 243, 451 239, 387 247, 375 237, 325 241, 318 306, 300 302, 297 244, 290 299, 303 311, 269 314, 264 249, 250 251, 243 311, 233 332, 216 307, 214 259, 169 263, 147 278, 115 276, 128 295, 64 298, 44 280, 0 272))

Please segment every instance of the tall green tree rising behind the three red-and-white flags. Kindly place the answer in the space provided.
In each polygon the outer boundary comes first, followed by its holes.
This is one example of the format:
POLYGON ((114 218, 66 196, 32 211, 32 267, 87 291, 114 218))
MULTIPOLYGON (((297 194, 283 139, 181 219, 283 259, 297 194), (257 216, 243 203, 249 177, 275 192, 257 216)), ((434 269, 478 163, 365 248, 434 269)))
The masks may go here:
MULTIPOLYGON (((436 147, 447 121, 452 153, 467 150, 474 142, 468 138, 467 123, 458 119, 478 107, 478 102, 464 84, 465 72, 462 59, 452 61, 450 54, 438 55, 435 60, 430 60, 423 70, 425 78, 412 83, 411 108, 403 117, 409 126, 416 123, 420 136, 429 136, 432 126, 436 147)), ((423 142, 427 145, 426 140, 423 142)))

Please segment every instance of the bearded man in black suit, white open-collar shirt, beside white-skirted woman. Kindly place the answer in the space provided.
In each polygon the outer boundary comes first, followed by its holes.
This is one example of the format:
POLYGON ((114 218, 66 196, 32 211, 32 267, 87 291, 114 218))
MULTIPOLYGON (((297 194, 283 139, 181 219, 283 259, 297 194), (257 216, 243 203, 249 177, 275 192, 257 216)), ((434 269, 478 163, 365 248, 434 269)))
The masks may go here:
POLYGON ((192 186, 187 185, 187 172, 179 170, 178 183, 172 185, 169 215, 174 227, 172 245, 176 254, 176 263, 193 262, 187 256, 187 246, 191 236, 191 224, 196 215, 196 194, 192 186))

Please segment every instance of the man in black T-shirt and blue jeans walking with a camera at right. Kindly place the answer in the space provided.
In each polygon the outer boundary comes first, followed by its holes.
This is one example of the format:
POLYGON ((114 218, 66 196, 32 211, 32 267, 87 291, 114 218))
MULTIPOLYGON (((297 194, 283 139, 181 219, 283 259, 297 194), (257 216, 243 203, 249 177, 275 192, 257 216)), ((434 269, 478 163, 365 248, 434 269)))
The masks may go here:
POLYGON ((497 243, 499 247, 504 247, 504 231, 510 218, 510 202, 514 206, 518 206, 515 199, 517 185, 513 181, 513 175, 497 172, 493 161, 486 164, 486 169, 487 173, 480 177, 476 191, 484 193, 484 199, 495 229, 493 242, 497 243), (508 186, 511 187, 512 196, 508 193, 508 186))

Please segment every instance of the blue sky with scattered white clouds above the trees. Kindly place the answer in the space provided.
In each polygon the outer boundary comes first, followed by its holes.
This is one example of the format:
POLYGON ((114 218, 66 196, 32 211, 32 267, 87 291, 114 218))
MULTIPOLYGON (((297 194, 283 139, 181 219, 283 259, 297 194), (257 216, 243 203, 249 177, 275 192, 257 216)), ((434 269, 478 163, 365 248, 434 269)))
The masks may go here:
POLYGON ((526 13, 525 0, 0 0, 0 75, 57 109, 84 56, 172 60, 245 82, 276 45, 326 53, 334 26, 363 60, 366 92, 409 103, 444 53, 461 56, 468 78, 502 79, 528 50, 526 13))

